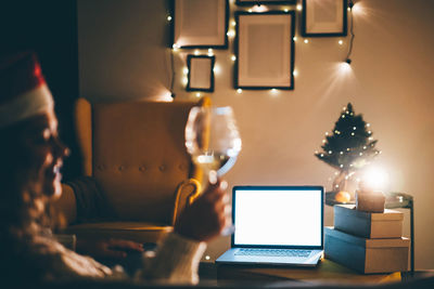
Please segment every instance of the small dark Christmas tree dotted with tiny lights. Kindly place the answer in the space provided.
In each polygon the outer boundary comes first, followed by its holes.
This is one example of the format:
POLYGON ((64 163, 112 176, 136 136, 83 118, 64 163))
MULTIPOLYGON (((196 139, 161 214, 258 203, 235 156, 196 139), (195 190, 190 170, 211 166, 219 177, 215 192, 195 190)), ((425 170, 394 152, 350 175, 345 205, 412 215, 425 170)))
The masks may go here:
POLYGON ((375 148, 378 141, 373 140, 369 127, 361 115, 355 115, 353 105, 348 103, 335 122, 333 132, 326 133, 321 146, 323 152, 315 156, 340 171, 333 182, 334 191, 345 191, 346 180, 380 154, 375 148))

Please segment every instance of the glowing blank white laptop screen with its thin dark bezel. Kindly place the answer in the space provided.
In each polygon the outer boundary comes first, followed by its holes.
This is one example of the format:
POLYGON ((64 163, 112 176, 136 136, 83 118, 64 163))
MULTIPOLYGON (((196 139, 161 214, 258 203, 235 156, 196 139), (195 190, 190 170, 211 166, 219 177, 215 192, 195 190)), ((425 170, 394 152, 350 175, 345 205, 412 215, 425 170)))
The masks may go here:
POLYGON ((232 247, 321 248, 321 186, 235 186, 232 247))

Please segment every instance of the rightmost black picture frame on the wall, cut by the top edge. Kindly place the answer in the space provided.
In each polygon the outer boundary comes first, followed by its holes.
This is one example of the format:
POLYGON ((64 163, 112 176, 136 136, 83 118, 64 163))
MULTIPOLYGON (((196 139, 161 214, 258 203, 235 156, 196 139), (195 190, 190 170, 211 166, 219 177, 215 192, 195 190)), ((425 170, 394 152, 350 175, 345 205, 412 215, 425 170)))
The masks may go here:
POLYGON ((346 36, 347 8, 347 0, 303 0, 302 36, 346 36))

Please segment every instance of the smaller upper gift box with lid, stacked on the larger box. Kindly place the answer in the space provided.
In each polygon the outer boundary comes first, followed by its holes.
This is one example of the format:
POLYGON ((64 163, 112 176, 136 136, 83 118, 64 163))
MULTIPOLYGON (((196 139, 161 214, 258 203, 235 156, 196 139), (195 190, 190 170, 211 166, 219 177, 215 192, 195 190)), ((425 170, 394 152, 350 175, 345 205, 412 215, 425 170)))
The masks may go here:
POLYGON ((400 238, 404 214, 384 210, 382 213, 362 212, 354 205, 334 206, 334 227, 365 238, 400 238))

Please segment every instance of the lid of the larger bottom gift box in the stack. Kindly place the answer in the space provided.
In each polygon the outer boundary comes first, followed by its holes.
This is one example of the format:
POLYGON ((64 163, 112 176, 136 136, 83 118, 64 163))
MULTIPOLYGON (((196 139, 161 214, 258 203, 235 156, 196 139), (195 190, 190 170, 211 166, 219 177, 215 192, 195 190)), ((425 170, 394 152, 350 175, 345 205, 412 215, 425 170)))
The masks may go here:
POLYGON ((337 231, 334 227, 326 227, 326 238, 328 236, 337 238, 343 241, 347 241, 363 248, 399 248, 409 247, 410 240, 405 237, 390 238, 390 239, 368 239, 357 237, 344 232, 337 231))

